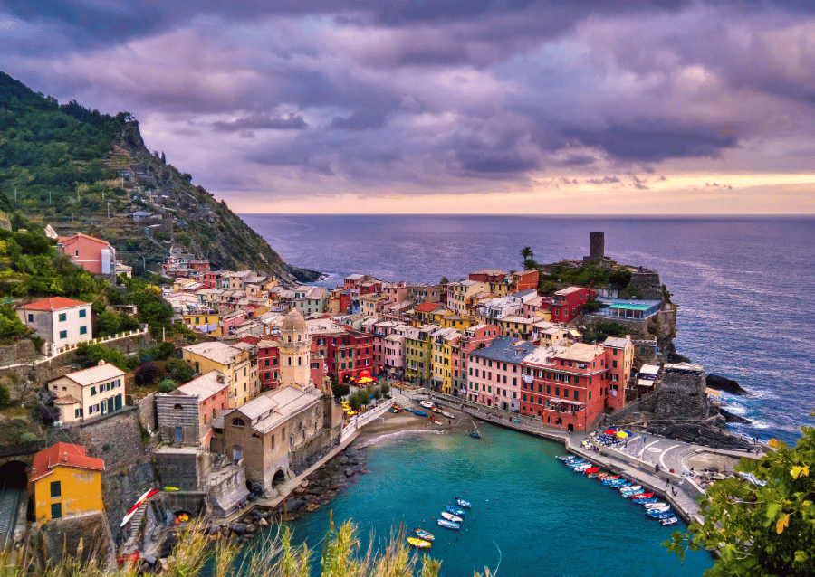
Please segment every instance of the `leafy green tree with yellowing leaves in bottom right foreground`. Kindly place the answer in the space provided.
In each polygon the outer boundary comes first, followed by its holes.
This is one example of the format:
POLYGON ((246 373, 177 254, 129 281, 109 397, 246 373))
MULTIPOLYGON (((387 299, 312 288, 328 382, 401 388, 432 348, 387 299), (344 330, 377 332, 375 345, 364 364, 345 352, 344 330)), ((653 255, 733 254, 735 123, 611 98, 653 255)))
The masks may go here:
MULTIPOLYGON (((815 416, 812 413, 810 416, 815 416)), ((748 480, 716 481, 701 501, 703 523, 676 531, 664 545, 684 558, 687 549, 720 553, 706 574, 811 575, 815 563, 815 427, 789 448, 773 450, 735 467, 748 480)))

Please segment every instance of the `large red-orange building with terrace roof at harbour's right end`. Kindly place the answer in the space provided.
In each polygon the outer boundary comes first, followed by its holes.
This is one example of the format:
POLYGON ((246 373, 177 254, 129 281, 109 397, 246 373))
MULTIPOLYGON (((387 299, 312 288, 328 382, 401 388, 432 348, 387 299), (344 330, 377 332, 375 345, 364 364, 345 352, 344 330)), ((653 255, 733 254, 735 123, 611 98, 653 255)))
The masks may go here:
POLYGON ((539 348, 522 362, 521 414, 565 430, 587 430, 608 403, 611 381, 602 346, 539 348))

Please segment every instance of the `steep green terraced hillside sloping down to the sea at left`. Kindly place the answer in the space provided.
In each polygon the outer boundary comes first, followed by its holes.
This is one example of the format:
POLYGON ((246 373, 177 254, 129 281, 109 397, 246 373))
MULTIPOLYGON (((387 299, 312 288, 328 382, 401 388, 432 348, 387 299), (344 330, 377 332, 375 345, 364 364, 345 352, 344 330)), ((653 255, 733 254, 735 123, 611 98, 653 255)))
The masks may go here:
POLYGON ((191 181, 149 151, 129 112, 60 105, 0 72, 0 211, 110 241, 134 272, 156 270, 175 244, 216 269, 272 273, 285 284, 317 278, 283 262, 191 181), (135 222, 139 211, 153 216, 135 222))

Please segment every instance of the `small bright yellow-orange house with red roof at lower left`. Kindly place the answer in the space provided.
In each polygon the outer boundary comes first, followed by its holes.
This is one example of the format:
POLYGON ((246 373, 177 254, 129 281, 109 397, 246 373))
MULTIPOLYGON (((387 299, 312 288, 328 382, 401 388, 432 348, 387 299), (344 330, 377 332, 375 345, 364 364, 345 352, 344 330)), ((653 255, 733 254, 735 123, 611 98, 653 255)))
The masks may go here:
POLYGON ((34 455, 29 492, 37 523, 103 511, 102 459, 85 455, 81 445, 57 443, 34 455))

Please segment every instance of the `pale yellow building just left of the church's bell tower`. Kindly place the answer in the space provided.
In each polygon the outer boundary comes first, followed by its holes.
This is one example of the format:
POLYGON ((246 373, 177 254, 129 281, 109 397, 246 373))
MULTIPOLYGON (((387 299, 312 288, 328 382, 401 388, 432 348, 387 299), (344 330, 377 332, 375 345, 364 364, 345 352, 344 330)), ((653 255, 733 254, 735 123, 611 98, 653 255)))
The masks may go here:
POLYGON ((214 341, 185 346, 181 349, 181 358, 198 374, 217 371, 224 375, 229 385, 230 409, 240 407, 260 393, 257 355, 252 358, 248 350, 214 341))

